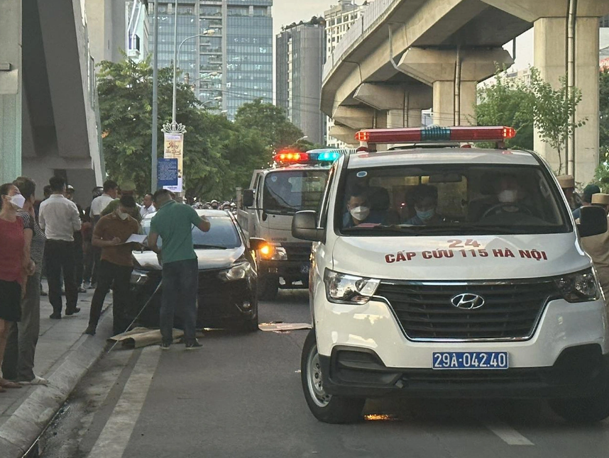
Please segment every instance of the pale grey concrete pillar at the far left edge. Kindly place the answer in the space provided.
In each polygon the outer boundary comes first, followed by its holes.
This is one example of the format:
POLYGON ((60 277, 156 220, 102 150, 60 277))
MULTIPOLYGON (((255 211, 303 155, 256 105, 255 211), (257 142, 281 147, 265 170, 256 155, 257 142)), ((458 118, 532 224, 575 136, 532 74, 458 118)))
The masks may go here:
POLYGON ((0 184, 21 175, 21 0, 0 14, 0 184))

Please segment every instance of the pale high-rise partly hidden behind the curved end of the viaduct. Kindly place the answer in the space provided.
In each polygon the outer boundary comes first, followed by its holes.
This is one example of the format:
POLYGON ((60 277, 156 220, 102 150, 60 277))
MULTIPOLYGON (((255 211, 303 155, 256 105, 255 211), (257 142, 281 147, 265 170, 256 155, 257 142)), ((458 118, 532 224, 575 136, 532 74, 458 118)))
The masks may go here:
MULTIPOLYGON (((326 57, 331 56, 343 35, 351 28, 355 21, 361 21, 366 6, 371 1, 364 1, 362 5, 357 5, 353 0, 339 0, 337 5, 332 5, 330 9, 324 11, 326 21, 326 57)), ((345 143, 336 140, 329 135, 330 128, 334 125, 331 118, 327 118, 326 123, 326 143, 331 147, 345 147, 345 143)))

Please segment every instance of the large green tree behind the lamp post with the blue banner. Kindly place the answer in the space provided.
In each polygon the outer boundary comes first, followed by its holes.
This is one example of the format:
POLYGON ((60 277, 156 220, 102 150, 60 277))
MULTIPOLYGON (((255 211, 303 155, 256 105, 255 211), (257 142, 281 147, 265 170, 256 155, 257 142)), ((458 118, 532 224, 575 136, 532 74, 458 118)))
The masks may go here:
MULTIPOLYGON (((172 69, 159 69, 159 125, 171 118, 172 69)), ((149 62, 101 62, 99 110, 106 172, 111 179, 132 179, 138 194, 150 192, 152 149, 152 69, 149 62)), ((224 164, 221 145, 231 135, 224 116, 207 113, 185 84, 177 88, 177 121, 187 126, 184 142, 185 187, 215 181, 224 164)), ((159 133, 158 157, 163 157, 159 133)))

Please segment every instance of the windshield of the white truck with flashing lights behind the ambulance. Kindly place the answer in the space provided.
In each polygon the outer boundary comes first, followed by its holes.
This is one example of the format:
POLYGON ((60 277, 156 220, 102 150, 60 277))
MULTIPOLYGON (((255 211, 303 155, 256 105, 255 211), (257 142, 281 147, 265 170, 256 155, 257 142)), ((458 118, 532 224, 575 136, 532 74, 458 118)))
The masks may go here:
POLYGON ((328 169, 271 172, 264 181, 264 211, 293 215, 316 210, 327 178, 328 169))

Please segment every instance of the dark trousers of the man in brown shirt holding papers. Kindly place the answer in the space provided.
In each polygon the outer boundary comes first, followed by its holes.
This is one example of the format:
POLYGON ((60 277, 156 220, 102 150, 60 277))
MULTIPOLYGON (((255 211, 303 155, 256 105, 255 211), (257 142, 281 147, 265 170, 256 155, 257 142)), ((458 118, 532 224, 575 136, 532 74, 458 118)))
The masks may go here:
POLYGON ((114 335, 124 333, 128 325, 125 310, 129 303, 132 271, 133 267, 121 266, 101 259, 97 270, 97 288, 93 294, 91 311, 89 312, 89 326, 97 328, 101 308, 104 306, 104 299, 112 288, 114 291, 112 296, 114 335))

